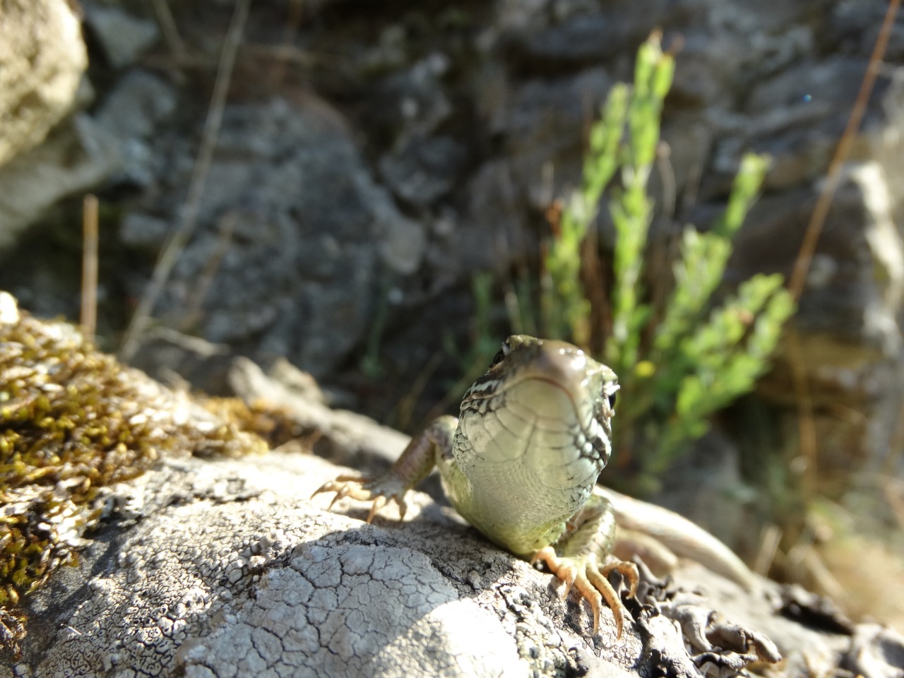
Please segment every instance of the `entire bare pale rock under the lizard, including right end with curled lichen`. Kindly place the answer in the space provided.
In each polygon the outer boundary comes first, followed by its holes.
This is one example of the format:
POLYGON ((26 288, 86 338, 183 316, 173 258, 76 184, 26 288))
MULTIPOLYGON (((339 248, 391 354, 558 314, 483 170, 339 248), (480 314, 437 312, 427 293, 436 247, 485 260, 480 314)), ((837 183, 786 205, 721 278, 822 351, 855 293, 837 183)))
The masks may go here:
MULTIPOLYGON (((238 367, 247 389, 265 387, 255 366, 238 367)), ((368 419, 328 411, 321 430, 334 444, 375 452, 398 442, 368 419)), ((700 568, 673 582, 645 573, 622 639, 608 612, 593 636, 585 603, 562 600, 551 575, 426 494, 411 493, 404 523, 388 508, 372 525, 366 506, 343 500, 329 511, 328 498, 307 498, 341 472, 279 451, 165 458, 108 488, 108 515, 79 564, 26 598, 24 653, 0 665, 0 678, 715 677, 774 661, 767 636, 788 657, 770 675, 840 665, 866 678, 899 674, 904 643, 890 630, 830 633, 780 619, 777 585, 744 592, 700 568)))

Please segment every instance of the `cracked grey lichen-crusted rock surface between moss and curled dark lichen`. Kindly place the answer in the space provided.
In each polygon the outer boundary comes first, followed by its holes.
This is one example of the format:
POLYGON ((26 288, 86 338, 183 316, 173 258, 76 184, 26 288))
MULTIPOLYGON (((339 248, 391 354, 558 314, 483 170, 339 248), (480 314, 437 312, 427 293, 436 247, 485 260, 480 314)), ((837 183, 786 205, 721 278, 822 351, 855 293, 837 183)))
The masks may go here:
POLYGON ((433 505, 443 543, 420 511, 376 526, 325 512, 304 497, 335 470, 273 453, 167 462, 139 478, 118 497, 134 525, 97 535, 80 567, 35 598, 28 654, 42 658, 19 673, 563 671, 574 632, 532 602, 555 599, 547 575, 433 505), (64 591, 66 610, 52 605, 64 591))

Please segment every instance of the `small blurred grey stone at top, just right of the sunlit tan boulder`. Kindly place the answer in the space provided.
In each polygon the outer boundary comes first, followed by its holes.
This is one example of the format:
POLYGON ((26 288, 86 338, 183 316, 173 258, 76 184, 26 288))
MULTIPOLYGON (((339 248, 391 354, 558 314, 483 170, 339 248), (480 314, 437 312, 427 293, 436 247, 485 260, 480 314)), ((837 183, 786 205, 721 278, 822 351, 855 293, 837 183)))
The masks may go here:
POLYGON ((116 5, 91 3, 85 23, 100 44, 108 64, 114 69, 131 66, 157 42, 157 24, 128 14, 116 5))

